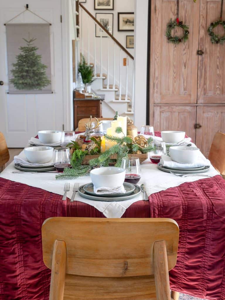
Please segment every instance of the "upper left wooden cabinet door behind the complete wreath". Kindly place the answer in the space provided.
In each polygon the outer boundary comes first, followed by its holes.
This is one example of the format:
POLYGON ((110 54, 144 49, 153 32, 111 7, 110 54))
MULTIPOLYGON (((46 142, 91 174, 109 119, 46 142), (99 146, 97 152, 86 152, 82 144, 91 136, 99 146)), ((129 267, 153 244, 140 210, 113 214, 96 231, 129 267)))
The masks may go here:
MULTIPOLYGON (((176 18, 175 0, 152 0, 150 97, 152 103, 196 103, 200 1, 179 1, 179 19, 189 26, 185 43, 172 44, 165 36, 167 23, 176 18)), ((183 30, 172 30, 183 35, 183 30)), ((151 109, 151 108, 150 108, 151 109)), ((150 111, 151 114, 151 111, 150 111)), ((152 117, 151 117, 152 119, 152 117)))

